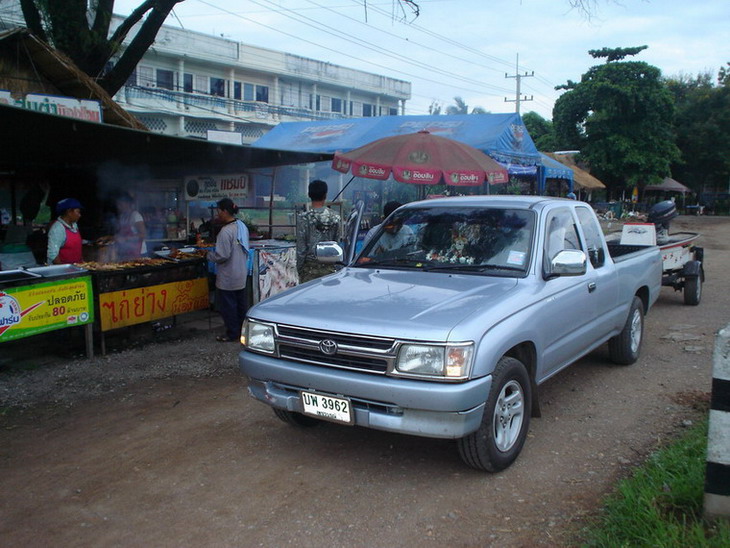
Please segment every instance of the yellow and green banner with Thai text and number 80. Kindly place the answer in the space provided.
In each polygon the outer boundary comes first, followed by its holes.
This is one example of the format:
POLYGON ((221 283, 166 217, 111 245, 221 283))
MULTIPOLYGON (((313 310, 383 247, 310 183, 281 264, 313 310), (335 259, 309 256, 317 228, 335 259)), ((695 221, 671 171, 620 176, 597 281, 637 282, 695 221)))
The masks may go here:
POLYGON ((91 277, 0 289, 0 342, 94 321, 91 277))

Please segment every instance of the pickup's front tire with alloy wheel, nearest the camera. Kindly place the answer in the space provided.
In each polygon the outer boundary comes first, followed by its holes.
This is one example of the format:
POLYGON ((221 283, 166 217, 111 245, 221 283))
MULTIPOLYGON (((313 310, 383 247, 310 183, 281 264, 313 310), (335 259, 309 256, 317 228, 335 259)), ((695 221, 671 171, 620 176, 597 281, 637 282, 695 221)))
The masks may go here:
POLYGON ((531 410, 532 388, 527 369, 515 358, 501 358, 492 375, 479 428, 457 440, 461 459, 485 472, 507 468, 525 444, 531 410))

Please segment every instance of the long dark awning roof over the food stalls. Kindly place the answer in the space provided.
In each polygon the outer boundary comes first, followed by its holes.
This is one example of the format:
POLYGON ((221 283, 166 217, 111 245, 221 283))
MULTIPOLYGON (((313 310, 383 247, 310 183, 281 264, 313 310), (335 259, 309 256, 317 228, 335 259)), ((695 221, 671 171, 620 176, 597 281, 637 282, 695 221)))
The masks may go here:
POLYGON ((144 169, 154 178, 232 173, 330 160, 331 154, 287 152, 160 135, 0 104, 0 171, 94 173, 105 165, 144 169))

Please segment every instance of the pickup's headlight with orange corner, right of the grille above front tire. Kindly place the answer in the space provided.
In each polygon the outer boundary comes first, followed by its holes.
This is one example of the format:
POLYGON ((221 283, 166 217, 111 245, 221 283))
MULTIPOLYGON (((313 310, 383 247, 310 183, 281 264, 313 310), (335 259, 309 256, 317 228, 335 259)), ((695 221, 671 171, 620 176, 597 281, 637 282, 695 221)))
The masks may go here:
POLYGON ((474 346, 404 344, 398 352, 395 369, 410 375, 427 375, 450 379, 469 374, 474 346))

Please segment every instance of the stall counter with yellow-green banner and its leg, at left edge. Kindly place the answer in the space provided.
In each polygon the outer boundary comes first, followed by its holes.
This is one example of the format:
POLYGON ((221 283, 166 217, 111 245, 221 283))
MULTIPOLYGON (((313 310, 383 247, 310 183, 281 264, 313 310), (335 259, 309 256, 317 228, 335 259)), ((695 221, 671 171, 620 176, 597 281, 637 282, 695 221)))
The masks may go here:
POLYGON ((94 292, 89 272, 52 265, 0 272, 0 343, 84 326, 93 357, 94 292))

